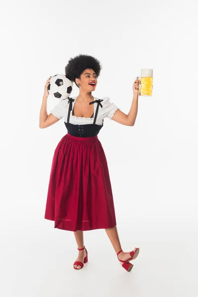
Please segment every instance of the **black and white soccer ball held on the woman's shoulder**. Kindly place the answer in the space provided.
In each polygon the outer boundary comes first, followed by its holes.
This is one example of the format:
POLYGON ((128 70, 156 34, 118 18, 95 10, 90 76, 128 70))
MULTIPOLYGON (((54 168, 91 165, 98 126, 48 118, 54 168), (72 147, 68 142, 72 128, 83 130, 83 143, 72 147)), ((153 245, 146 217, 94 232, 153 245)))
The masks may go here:
POLYGON ((49 94, 56 99, 66 99, 72 92, 73 83, 64 74, 56 74, 50 78, 49 94))

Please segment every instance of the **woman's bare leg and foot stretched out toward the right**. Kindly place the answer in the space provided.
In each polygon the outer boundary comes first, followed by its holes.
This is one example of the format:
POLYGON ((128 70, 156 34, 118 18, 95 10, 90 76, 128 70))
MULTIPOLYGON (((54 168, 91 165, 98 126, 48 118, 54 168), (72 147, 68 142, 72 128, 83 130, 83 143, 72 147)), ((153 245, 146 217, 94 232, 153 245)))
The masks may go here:
MULTIPOLYGON (((118 232, 117 232, 117 226, 105 229, 105 231, 106 231, 106 234, 107 234, 108 238, 110 239, 110 242, 117 254, 118 251, 120 251, 122 249, 120 240, 119 240, 119 236, 118 236, 118 232)), ((134 250, 135 250, 135 248, 134 248, 134 250)), ((130 258, 130 253, 122 251, 119 253, 118 258, 120 260, 125 261, 130 258)), ((123 264, 122 262, 120 262, 120 263, 123 264)))

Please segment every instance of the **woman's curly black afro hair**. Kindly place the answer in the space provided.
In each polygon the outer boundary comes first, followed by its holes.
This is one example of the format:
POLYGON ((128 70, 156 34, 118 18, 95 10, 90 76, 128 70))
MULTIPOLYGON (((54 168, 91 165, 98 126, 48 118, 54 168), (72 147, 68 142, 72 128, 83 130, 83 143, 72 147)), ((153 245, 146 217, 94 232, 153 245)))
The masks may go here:
MULTIPOLYGON (((70 58, 65 66, 65 75, 69 80, 76 84, 75 79, 80 79, 80 76, 85 69, 93 69, 98 77, 101 68, 99 60, 95 57, 87 54, 79 54, 74 58, 70 58)), ((79 88, 77 84, 76 86, 79 88)))

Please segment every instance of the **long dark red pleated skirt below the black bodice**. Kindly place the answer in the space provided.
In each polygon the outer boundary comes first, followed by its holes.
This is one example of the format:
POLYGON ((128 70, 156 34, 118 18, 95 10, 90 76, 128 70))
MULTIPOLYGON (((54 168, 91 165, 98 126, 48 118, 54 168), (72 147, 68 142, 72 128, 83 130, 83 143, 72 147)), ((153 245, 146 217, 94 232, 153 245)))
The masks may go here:
POLYGON ((54 228, 87 231, 116 225, 106 157, 98 136, 64 135, 55 148, 45 219, 54 228))

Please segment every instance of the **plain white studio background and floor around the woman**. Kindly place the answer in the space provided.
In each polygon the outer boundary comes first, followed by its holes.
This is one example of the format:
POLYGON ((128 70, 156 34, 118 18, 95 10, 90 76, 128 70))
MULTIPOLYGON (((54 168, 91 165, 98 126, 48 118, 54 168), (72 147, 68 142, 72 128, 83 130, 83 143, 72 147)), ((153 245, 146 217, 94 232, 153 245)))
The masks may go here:
MULTIPOLYGON (((197 15, 196 0, 1 2, 1 296, 198 295, 197 15), (99 132, 122 248, 140 247, 130 273, 104 230, 84 232, 89 262, 74 270, 73 232, 44 219, 67 132, 62 120, 39 128, 44 86, 79 53, 101 61, 93 95, 126 114, 140 69, 153 69, 135 125, 105 119, 99 132)), ((49 96, 48 112, 56 103, 49 96)))

